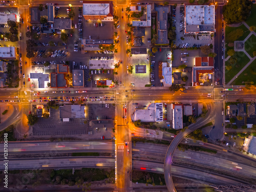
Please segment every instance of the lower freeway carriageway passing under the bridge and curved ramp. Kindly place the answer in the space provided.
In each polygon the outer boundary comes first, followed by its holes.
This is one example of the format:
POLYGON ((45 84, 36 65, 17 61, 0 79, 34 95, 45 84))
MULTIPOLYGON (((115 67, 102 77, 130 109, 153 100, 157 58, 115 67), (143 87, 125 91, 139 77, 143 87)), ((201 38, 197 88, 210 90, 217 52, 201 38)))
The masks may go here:
MULTIPOLYGON (((112 157, 56 157, 49 159, 13 159, 8 162, 8 169, 39 169, 39 168, 80 168, 80 167, 94 167, 94 168, 109 168, 115 166, 115 159, 112 157)), ((155 172, 163 174, 163 163, 156 163, 150 161, 138 161, 133 160, 133 168, 141 169, 141 167, 147 167, 148 172, 155 172)), ((3 169, 4 165, 0 165, 3 169)), ((173 174, 177 177, 188 178, 197 181, 204 181, 204 183, 215 183, 215 184, 239 184, 237 179, 218 175, 215 173, 201 172, 200 169, 191 167, 184 167, 181 165, 173 166, 173 174)))

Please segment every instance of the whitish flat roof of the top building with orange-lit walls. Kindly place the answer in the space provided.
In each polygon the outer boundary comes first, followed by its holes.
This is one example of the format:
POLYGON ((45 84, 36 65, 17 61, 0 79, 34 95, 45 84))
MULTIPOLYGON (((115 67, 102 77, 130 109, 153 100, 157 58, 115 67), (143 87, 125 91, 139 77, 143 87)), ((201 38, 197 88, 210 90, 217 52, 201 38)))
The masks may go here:
POLYGON ((108 15, 110 4, 83 4, 83 15, 108 15))

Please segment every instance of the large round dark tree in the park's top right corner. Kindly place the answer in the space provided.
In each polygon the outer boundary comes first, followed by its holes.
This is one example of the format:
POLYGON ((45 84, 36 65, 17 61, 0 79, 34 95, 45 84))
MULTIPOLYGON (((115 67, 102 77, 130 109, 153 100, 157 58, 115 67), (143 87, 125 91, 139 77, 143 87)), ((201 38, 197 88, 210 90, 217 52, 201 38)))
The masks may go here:
POLYGON ((229 0, 223 7, 223 17, 227 24, 240 23, 248 18, 252 2, 249 0, 229 0))

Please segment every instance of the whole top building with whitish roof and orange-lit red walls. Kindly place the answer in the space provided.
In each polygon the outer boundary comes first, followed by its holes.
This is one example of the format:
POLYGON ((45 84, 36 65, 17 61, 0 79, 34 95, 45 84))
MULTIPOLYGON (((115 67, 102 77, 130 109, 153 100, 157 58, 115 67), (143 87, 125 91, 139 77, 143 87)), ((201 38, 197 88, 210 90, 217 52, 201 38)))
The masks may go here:
POLYGON ((101 20, 113 22, 112 1, 87 1, 83 4, 83 17, 86 20, 101 20))

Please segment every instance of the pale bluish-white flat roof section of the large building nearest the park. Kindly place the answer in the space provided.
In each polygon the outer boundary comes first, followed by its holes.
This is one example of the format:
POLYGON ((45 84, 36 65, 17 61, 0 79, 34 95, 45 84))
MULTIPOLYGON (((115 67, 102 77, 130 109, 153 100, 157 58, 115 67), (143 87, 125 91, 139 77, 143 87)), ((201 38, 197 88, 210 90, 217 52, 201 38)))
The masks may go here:
POLYGON ((185 9, 186 25, 214 25, 215 6, 211 5, 187 5, 185 9))

